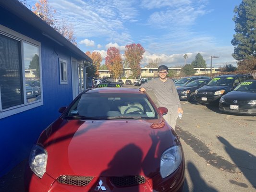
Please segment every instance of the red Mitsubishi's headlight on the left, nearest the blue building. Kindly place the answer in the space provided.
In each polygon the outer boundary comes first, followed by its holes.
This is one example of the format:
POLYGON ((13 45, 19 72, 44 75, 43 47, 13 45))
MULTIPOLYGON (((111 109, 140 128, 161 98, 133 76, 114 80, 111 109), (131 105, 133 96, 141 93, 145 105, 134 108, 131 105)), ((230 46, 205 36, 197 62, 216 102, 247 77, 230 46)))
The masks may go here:
POLYGON ((30 152, 29 167, 39 178, 46 172, 47 156, 47 151, 39 145, 34 145, 30 152))

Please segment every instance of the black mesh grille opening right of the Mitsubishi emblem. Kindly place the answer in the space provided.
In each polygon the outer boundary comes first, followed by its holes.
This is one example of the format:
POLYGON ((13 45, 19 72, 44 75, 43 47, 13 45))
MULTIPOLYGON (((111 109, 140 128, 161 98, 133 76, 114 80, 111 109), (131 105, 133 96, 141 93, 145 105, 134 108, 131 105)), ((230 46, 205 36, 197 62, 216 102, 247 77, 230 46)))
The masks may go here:
POLYGON ((139 185, 146 182, 143 176, 111 177, 111 182, 118 187, 139 185))

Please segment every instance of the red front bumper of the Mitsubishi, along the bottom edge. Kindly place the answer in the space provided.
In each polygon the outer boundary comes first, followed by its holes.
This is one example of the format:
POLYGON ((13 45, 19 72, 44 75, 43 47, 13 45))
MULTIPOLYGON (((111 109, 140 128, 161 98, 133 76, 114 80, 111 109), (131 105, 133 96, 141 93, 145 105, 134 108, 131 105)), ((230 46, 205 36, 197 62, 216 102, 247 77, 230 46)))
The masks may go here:
MULTIPOLYGON (((160 174, 146 179, 142 184, 130 186, 116 186, 109 177, 93 177, 85 186, 77 186, 78 182, 63 184, 47 173, 42 179, 38 178, 31 170, 27 171, 25 179, 26 192, 182 192, 185 180, 184 159, 180 167, 167 178, 162 179, 160 174)), ((62 177, 62 176, 61 176, 62 177)))

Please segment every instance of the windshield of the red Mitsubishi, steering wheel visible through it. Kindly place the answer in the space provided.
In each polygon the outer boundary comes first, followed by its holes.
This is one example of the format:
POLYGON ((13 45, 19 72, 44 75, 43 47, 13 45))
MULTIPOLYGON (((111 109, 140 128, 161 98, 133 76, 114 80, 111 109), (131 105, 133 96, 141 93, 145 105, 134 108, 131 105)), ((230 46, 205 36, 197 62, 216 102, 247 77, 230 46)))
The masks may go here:
POLYGON ((67 119, 157 119, 146 95, 84 93, 68 111, 67 119))

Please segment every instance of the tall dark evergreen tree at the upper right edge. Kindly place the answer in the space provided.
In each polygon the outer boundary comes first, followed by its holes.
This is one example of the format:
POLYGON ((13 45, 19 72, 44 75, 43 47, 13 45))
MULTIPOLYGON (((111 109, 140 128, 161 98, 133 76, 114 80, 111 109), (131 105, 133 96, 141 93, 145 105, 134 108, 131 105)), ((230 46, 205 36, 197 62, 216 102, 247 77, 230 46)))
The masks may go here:
POLYGON ((234 13, 236 34, 231 41, 235 46, 232 56, 236 60, 244 60, 248 56, 256 57, 256 0, 242 0, 235 7, 234 13))

